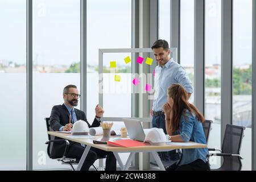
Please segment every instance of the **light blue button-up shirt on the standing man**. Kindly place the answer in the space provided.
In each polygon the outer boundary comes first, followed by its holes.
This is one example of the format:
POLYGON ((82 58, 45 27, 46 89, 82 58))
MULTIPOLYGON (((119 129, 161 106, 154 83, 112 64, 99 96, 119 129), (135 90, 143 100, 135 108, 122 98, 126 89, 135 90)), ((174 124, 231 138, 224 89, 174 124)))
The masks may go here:
POLYGON ((193 86, 185 69, 170 59, 163 67, 158 65, 155 68, 154 101, 152 110, 161 111, 167 102, 167 89, 172 84, 181 84, 187 93, 193 92, 193 86))

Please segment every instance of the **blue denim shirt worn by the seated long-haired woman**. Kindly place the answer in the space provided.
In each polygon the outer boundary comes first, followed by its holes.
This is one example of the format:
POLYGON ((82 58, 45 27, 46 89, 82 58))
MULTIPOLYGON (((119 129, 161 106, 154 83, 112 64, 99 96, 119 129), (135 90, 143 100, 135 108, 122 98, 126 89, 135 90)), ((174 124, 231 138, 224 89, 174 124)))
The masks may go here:
MULTIPOLYGON (((196 115, 185 110, 180 119, 179 131, 181 139, 184 142, 196 142, 207 144, 205 139, 202 123, 197 119, 196 115)), ((207 148, 189 148, 182 150, 182 157, 179 166, 189 164, 197 159, 202 159, 205 163, 207 148)))

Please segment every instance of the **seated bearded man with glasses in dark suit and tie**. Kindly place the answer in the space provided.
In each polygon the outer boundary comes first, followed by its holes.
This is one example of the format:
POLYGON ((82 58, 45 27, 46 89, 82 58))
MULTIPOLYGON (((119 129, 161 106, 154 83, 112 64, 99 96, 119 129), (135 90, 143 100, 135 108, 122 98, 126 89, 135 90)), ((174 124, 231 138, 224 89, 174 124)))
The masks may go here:
MULTIPOLYGON (((75 85, 67 85, 63 89, 63 105, 56 105, 52 107, 50 123, 51 128, 54 131, 71 131, 73 123, 80 119, 85 121, 88 127, 100 126, 100 118, 104 113, 104 110, 100 105, 95 108, 96 117, 92 125, 86 119, 84 111, 75 109, 78 104, 78 98, 80 98, 79 90, 75 85), (71 118, 71 123, 69 123, 71 118)), ((57 138, 56 139, 60 139, 57 138)), ((80 143, 69 141, 69 149, 67 151, 68 158, 80 159, 85 148, 80 143)), ((52 146, 51 158, 61 158, 64 154, 65 143, 54 143, 52 146)), ((117 160, 113 152, 107 152, 98 148, 91 147, 88 155, 86 156, 85 162, 81 167, 81 170, 89 170, 90 166, 95 162, 97 156, 107 156, 106 158, 106 171, 116 170, 117 160)))

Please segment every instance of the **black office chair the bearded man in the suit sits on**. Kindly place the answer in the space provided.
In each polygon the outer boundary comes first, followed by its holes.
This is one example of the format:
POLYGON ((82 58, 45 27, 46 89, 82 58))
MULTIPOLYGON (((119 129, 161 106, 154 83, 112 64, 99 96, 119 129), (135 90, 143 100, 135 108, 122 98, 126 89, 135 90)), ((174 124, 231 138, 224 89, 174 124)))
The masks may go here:
MULTIPOLYGON (((44 118, 44 120, 46 120, 47 131, 53 131, 52 128, 51 128, 51 125, 49 123, 49 118, 44 118)), ((49 134, 48 134, 48 139, 49 140, 46 142, 46 144, 48 144, 47 154, 48 154, 49 158, 51 158, 51 151, 52 151, 53 143, 66 143, 63 157, 60 158, 60 159, 58 158, 56 160, 60 161, 61 164, 68 164, 69 166, 71 166, 72 170, 75 171, 75 168, 73 167, 73 165, 79 164, 80 159, 67 158, 67 151, 68 151, 68 148, 69 148, 69 141, 67 139, 55 139, 54 136, 49 135, 49 134)), ((98 156, 97 157, 97 159, 104 159, 104 158, 106 158, 106 156, 98 156)), ((54 159, 54 158, 51 158, 51 159, 54 159)), ((92 166, 93 166, 94 169, 96 169, 96 171, 98 171, 98 169, 94 166, 94 164, 92 166)))

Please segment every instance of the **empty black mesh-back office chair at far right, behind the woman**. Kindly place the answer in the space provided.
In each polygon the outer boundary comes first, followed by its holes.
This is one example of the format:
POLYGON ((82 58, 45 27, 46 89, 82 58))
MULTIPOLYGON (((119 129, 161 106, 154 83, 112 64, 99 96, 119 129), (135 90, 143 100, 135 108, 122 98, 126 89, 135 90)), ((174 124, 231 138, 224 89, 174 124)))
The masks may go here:
POLYGON ((243 131, 245 127, 226 125, 224 139, 221 150, 215 148, 208 148, 209 151, 220 151, 221 153, 213 153, 207 155, 207 162, 210 156, 223 156, 224 160, 220 168, 212 169, 213 171, 240 171, 242 168, 240 156, 241 143, 243 138, 243 131))

